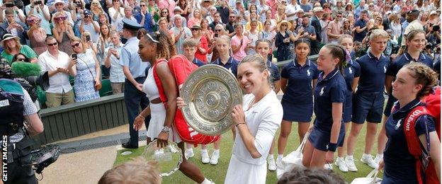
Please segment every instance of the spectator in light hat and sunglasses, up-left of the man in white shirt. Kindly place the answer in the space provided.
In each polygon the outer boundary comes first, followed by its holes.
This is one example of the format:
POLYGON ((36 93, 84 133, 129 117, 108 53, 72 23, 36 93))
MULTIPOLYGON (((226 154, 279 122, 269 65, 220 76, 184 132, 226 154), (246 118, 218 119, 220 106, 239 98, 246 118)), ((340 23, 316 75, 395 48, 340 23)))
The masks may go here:
POLYGON ((30 47, 33 48, 35 54, 40 55, 47 50, 45 43, 46 31, 40 27, 40 18, 38 18, 38 16, 30 15, 26 21, 29 25, 27 35, 30 47))

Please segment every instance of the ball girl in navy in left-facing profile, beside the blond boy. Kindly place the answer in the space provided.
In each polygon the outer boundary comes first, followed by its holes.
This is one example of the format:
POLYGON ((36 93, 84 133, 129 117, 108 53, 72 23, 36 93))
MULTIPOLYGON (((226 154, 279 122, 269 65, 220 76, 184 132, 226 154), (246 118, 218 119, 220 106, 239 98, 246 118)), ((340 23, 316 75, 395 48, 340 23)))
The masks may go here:
POLYGON ((317 69, 322 72, 314 88, 316 119, 305 144, 302 164, 307 168, 324 168, 332 163, 337 146, 344 144, 342 113, 346 83, 342 73, 346 51, 339 45, 325 45, 319 51, 317 69))

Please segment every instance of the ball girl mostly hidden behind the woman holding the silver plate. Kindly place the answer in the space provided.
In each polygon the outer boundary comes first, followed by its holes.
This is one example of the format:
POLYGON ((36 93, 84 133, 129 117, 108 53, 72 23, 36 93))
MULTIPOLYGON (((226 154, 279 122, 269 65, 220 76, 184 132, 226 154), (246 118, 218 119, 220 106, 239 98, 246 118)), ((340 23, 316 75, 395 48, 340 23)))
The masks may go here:
MULTIPOLYGON (((270 47, 271 46, 271 42, 270 40, 266 40, 266 39, 259 39, 256 40, 256 52, 259 53, 261 55, 261 57, 263 57, 264 59, 267 59, 267 67, 268 67, 268 72, 270 72, 270 76, 272 78, 273 81, 273 91, 275 91, 275 93, 278 93, 280 90, 280 74, 279 74, 279 69, 278 66, 276 66, 276 64, 273 64, 271 62, 271 59, 268 59, 268 54, 270 53, 270 47)), ((270 77, 269 76, 269 77, 270 77)), ((275 163, 275 158, 273 158, 273 148, 275 147, 275 140, 273 138, 273 142, 270 146, 270 150, 268 151, 268 158, 267 158, 267 164, 268 164, 268 171, 276 171, 276 163, 275 163)))

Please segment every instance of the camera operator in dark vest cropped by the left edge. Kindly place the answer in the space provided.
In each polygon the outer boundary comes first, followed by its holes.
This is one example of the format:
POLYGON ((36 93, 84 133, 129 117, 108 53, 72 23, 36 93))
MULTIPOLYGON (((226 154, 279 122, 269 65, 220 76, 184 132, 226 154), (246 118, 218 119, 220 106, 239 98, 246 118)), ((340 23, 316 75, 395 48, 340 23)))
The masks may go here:
MULTIPOLYGON (((6 64, 3 64, 5 66, 6 64)), ((7 151, 7 178, 4 183, 37 183, 31 168, 30 146, 33 141, 30 135, 43 132, 43 124, 38 110, 30 99, 28 92, 16 81, 4 79, 6 73, 0 67, 0 133, 3 151, 7 151), (4 136, 6 135, 6 136, 4 136)))

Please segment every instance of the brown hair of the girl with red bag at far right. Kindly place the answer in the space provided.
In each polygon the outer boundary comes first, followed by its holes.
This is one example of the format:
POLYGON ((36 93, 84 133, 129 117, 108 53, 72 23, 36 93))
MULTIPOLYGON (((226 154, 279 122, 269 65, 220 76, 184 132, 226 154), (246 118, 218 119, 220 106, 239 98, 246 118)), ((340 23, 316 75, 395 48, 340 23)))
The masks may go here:
POLYGON ((416 94, 417 98, 428 95, 438 83, 438 74, 430 67, 419 62, 411 62, 404 66, 409 70, 409 75, 416 79, 416 84, 421 84, 421 90, 416 94))

